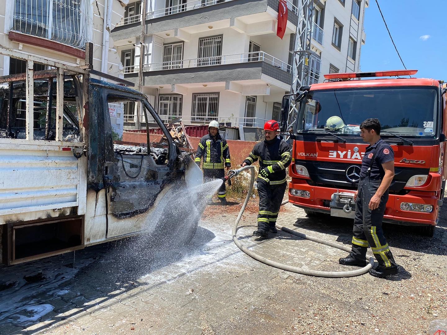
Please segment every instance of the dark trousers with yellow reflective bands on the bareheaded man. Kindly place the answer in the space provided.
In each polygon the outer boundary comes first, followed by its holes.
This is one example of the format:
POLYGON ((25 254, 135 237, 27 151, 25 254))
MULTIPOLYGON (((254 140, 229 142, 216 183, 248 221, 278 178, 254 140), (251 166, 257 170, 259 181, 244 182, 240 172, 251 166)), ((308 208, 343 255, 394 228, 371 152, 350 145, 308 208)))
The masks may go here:
POLYGON ((369 178, 360 180, 358 183, 352 255, 358 259, 365 259, 367 247, 370 245, 377 262, 381 266, 390 267, 395 266, 396 262, 382 230, 388 191, 380 198, 378 208, 374 210, 368 208, 369 202, 379 188, 380 183, 381 180, 370 180, 369 178))

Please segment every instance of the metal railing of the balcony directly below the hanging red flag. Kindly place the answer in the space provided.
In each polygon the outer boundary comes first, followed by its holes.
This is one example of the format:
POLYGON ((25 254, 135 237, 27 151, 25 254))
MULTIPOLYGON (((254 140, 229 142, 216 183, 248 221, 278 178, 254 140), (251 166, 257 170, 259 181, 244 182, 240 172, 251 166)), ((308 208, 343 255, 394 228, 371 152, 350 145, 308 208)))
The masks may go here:
MULTIPOLYGON (((292 71, 292 68, 289 64, 273 57, 270 54, 266 54, 264 51, 151 63, 143 65, 143 71, 184 69, 190 67, 218 66, 226 64, 240 64, 240 63, 260 62, 260 61, 271 64, 274 67, 278 67, 279 69, 286 71, 288 73, 291 73, 292 71)), ((134 73, 138 71, 139 71, 138 65, 124 67, 124 73, 134 73)))

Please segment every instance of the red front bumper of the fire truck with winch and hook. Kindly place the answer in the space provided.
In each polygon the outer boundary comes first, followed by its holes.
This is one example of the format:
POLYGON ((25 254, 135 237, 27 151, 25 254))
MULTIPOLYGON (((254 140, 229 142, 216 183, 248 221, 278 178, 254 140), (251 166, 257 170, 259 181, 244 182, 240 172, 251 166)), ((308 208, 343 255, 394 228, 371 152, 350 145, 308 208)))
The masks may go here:
MULTIPOLYGON (((301 180, 300 180, 301 181, 301 180)), ((289 202, 303 209, 354 218, 354 190, 311 186, 292 180, 289 184, 289 202)), ((436 225, 442 201, 435 192, 413 192, 405 195, 390 194, 384 222, 406 226, 436 225)))

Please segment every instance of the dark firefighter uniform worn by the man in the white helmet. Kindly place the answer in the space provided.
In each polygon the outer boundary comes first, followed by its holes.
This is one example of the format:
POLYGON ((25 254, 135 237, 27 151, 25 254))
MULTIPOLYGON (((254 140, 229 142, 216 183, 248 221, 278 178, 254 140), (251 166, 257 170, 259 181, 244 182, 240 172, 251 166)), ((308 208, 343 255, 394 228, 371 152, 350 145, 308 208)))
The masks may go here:
MULTIPOLYGON (((223 178, 224 166, 231 166, 230 151, 227 141, 217 133, 216 136, 207 134, 200 139, 195 162, 200 166, 203 157, 203 177, 205 180, 223 178)), ((224 201, 227 195, 225 183, 219 188, 217 196, 224 201)))

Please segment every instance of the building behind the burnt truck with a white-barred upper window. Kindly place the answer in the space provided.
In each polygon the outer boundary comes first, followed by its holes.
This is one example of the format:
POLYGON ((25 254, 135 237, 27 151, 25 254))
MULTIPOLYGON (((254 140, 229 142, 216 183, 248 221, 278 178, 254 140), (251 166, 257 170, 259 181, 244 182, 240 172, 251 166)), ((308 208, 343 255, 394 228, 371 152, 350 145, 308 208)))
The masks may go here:
MULTIPOLYGON (((93 69, 118 76, 122 74, 122 64, 109 31, 120 22, 127 3, 128 0, 2 0, 0 46, 76 66, 84 65, 85 44, 93 42, 93 69)), ((35 63, 34 70, 45 67, 35 63)), ((0 75, 23 72, 24 61, 0 56, 0 75)), ((122 109, 110 116, 112 126, 121 135, 122 109)))

